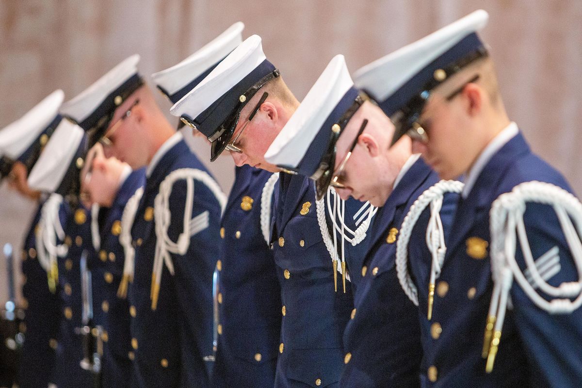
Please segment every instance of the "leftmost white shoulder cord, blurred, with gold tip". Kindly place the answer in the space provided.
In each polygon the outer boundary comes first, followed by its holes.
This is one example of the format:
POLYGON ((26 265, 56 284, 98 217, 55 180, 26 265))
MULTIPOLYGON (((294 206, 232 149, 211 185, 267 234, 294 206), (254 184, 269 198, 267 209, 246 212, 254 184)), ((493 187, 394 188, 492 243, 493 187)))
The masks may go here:
POLYGON ((63 202, 60 194, 51 194, 44 202, 41 209, 41 218, 36 232, 36 247, 38 261, 47 271, 48 287, 52 293, 56 291, 59 282, 59 269, 57 257, 65 257, 69 251, 66 244, 57 244, 58 240, 65 239, 65 231, 59 218, 59 209, 63 202))

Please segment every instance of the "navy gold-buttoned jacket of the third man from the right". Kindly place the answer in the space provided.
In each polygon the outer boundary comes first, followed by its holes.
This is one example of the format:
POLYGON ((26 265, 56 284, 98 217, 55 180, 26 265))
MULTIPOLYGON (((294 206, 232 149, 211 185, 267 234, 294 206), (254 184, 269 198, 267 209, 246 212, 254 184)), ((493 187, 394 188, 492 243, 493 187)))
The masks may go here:
POLYGON ((339 284, 334 291, 313 181, 280 173, 277 194, 272 230, 283 318, 275 387, 337 387, 352 291, 339 284))

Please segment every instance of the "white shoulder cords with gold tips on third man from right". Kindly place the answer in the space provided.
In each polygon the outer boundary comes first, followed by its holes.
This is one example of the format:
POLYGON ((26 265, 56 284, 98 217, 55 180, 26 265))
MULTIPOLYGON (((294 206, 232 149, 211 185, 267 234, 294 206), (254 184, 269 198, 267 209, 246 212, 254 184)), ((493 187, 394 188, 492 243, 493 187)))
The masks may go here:
POLYGON ((370 202, 365 202, 359 211, 353 216, 356 220, 357 228, 356 230, 350 229, 344 222, 344 217, 346 215, 346 204, 336 191, 329 187, 327 191, 327 209, 329 213, 329 218, 332 220, 333 225, 333 242, 330 236, 327 222, 325 220, 325 200, 321 198, 319 201, 315 201, 317 207, 317 222, 320 225, 321 237, 324 240, 325 247, 327 248, 329 255, 332 259, 333 265, 333 280, 335 283, 335 291, 338 291, 338 279, 337 275, 342 274, 342 284, 343 292, 346 292, 346 279, 350 280, 349 275, 346 273, 346 259, 345 259, 345 241, 347 240, 352 246, 356 246, 361 243, 365 237, 368 228, 370 227, 372 217, 378 211, 378 208, 370 205, 370 202), (338 237, 336 232, 342 238, 342 249, 341 258, 338 255, 338 237))

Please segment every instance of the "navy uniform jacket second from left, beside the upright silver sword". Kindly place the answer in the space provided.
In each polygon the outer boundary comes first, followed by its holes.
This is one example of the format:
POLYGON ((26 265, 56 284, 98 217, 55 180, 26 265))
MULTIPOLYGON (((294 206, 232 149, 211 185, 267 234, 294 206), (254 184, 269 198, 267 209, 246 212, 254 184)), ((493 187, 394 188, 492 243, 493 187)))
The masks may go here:
MULTIPOLYGON (((59 295, 61 297, 61 328, 56 350, 55 384, 59 388, 76 388, 91 384, 91 373, 79 365, 83 359, 83 339, 76 329, 81 328, 82 294, 80 258, 87 251, 87 265, 91 267, 97 255, 91 240, 91 212, 83 207, 72 208, 63 201, 59 218, 65 231, 69 250, 65 257, 58 257, 59 295)), ((93 279, 93 283, 98 282, 93 279)), ((95 297, 95 294, 93 295, 95 297)), ((98 300, 98 299, 97 299, 98 300)), ((102 322, 101 309, 93 300, 94 323, 102 322)))

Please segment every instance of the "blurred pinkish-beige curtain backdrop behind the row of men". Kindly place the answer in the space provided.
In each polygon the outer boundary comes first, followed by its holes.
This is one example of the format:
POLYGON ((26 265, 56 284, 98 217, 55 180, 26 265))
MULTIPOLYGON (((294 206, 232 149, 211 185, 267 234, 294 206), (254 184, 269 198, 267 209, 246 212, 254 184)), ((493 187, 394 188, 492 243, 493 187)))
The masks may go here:
MULTIPOLYGON (((141 55, 145 76, 175 65, 238 20, 301 100, 334 55, 353 72, 478 8, 490 15, 481 36, 510 118, 582 193, 580 0, 1 0, 0 128, 58 88, 74 97, 129 55, 141 55)), ((230 156, 210 163, 208 147, 194 146, 228 193, 230 156)), ((0 187, 0 246, 19 254, 33 210, 0 187)), ((2 304, 5 279, 0 260, 2 304)))

